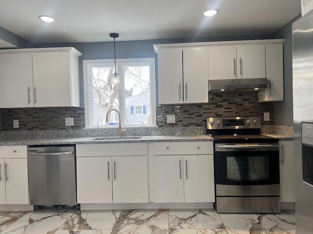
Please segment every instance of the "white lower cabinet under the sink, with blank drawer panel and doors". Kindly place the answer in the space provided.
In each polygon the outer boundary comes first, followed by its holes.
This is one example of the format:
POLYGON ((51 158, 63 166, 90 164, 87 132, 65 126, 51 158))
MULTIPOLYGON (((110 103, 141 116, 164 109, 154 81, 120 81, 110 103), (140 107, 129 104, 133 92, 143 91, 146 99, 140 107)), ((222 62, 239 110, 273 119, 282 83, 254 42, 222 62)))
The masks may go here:
POLYGON ((146 143, 76 145, 78 203, 147 203, 146 143))

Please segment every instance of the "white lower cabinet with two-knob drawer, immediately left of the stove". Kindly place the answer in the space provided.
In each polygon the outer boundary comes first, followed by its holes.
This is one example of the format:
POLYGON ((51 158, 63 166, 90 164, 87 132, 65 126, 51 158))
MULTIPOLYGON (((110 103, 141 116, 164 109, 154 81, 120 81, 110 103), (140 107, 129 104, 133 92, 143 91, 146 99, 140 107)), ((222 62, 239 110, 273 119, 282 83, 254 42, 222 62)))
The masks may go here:
POLYGON ((213 142, 162 142, 153 148, 156 203, 215 201, 213 142))

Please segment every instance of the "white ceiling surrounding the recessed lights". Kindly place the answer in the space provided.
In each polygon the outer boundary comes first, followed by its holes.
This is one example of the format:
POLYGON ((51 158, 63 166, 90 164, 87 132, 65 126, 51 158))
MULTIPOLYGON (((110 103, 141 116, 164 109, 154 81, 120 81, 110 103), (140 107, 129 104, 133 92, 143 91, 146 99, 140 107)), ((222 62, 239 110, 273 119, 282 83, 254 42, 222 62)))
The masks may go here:
POLYGON ((300 13, 301 0, 1 0, 0 26, 32 43, 198 38, 272 34, 300 13))

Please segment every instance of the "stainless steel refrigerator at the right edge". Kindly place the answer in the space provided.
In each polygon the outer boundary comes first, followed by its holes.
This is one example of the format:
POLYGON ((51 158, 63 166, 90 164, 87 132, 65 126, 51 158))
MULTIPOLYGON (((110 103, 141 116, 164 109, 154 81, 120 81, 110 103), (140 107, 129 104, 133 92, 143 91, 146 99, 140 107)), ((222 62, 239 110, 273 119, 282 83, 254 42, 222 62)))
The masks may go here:
POLYGON ((292 24, 296 233, 313 234, 313 11, 292 24))

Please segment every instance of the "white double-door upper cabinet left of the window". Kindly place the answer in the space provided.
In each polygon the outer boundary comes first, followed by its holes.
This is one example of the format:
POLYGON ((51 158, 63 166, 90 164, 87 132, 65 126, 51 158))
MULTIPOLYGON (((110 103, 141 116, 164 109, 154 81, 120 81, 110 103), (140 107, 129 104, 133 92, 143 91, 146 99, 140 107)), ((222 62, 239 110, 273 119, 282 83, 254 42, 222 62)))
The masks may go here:
POLYGON ((0 108, 80 106, 80 55, 72 47, 0 50, 0 108))

